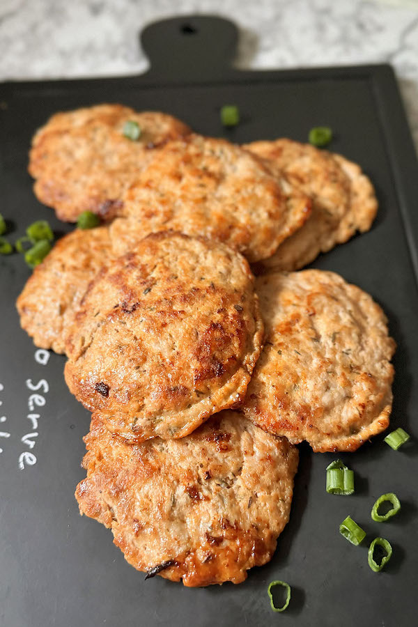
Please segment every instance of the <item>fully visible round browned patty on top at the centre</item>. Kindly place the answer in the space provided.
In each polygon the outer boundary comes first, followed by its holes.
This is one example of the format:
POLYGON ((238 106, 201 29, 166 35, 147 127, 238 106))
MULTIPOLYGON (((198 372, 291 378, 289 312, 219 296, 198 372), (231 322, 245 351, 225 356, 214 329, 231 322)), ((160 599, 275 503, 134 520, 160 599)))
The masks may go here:
POLYGON ((156 233, 88 288, 68 336, 65 380, 124 438, 181 438, 245 395, 262 335, 240 254, 156 233))

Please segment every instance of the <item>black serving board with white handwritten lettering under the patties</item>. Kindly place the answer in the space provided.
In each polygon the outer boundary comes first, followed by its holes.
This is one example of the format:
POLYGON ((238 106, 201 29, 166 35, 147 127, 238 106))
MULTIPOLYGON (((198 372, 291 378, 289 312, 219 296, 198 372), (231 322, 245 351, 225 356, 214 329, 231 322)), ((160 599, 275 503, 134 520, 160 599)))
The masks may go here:
POLYGON ((339 272, 385 308, 398 343, 392 424, 415 440, 395 452, 380 437, 344 454, 356 475, 350 497, 325 493, 325 467, 336 456, 312 454, 302 445, 291 521, 270 564, 250 571, 245 583, 187 589, 158 577, 144 581, 144 573, 114 547, 111 532, 79 516, 73 493, 84 477, 82 436, 89 415, 65 387, 64 358, 47 353, 42 365, 45 353, 36 353, 20 330, 15 299, 29 270, 21 256, 2 257, 1 626, 418 624, 418 170, 396 80, 388 65, 233 70, 236 40, 235 26, 225 20, 176 18, 142 33, 151 61, 145 75, 0 85, 0 210, 10 220, 11 238, 23 235, 34 219, 49 219, 58 234, 71 228, 36 201, 26 173, 31 136, 55 111, 122 102, 167 111, 197 132, 237 142, 283 136, 306 141, 311 127, 330 125, 332 150, 371 176, 380 211, 369 233, 320 256, 314 267, 339 272), (219 123, 226 103, 238 104, 242 114, 229 131, 219 123), (27 380, 38 389, 29 389, 27 380), (30 401, 31 394, 40 394, 45 405, 31 411, 31 401, 43 402, 39 396, 30 401), (36 428, 28 414, 40 415, 36 428), (401 513, 393 522, 372 522, 373 502, 389 491, 401 499, 401 513), (347 515, 366 530, 364 546, 339 535, 347 515), (394 555, 376 574, 367 564, 367 545, 379 535, 391 541, 394 555), (292 586, 284 614, 270 610, 267 585, 273 579, 292 586))

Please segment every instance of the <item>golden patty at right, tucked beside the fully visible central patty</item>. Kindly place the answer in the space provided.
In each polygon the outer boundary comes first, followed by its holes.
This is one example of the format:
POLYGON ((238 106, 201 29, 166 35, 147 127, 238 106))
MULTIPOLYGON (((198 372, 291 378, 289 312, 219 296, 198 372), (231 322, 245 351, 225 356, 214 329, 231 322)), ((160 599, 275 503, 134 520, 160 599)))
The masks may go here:
POLYGON ((265 347, 242 411, 314 451, 355 451, 389 425, 395 343, 382 309, 338 274, 256 280, 265 347))

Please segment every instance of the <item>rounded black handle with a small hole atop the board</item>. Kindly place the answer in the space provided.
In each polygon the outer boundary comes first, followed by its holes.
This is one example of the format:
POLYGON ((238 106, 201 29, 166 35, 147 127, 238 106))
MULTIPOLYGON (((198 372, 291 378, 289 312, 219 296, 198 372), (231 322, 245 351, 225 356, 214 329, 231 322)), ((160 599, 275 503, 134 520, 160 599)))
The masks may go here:
POLYGON ((230 70, 238 29, 222 17, 183 15, 150 24, 140 40, 150 61, 148 78, 182 82, 205 77, 212 81, 230 70))

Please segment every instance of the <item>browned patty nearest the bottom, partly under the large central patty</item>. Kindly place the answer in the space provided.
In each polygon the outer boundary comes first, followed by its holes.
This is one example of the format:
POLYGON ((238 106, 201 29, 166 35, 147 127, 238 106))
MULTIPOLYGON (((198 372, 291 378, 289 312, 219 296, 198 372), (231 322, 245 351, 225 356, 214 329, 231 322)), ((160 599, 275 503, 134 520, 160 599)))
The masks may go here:
POLYGON ((206 586, 239 583, 268 562, 288 522, 298 454, 234 412, 181 440, 126 444, 98 417, 84 438, 80 512, 114 534, 149 575, 206 586))

